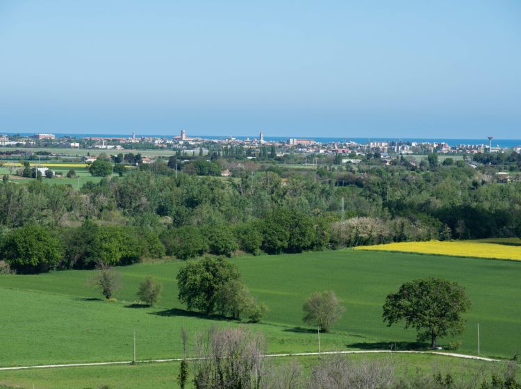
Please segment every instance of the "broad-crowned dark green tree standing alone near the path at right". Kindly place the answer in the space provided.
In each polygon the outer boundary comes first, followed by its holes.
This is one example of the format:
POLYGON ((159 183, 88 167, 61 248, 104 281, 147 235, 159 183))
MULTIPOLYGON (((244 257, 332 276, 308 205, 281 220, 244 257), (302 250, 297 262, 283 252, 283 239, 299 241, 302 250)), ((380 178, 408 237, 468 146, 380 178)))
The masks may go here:
POLYGON ((383 321, 388 326, 405 321, 405 328, 417 331, 417 340, 431 340, 437 347, 438 336, 458 335, 465 329, 461 316, 470 308, 465 288, 445 279, 415 279, 390 293, 383 305, 383 321))

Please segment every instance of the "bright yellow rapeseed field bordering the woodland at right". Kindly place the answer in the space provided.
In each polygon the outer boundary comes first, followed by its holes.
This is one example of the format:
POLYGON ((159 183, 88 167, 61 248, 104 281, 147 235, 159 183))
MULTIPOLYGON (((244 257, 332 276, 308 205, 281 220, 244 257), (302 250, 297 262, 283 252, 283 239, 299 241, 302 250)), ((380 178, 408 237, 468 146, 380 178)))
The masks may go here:
POLYGON ((521 239, 519 238, 399 242, 387 245, 358 246, 355 249, 521 260, 521 239))

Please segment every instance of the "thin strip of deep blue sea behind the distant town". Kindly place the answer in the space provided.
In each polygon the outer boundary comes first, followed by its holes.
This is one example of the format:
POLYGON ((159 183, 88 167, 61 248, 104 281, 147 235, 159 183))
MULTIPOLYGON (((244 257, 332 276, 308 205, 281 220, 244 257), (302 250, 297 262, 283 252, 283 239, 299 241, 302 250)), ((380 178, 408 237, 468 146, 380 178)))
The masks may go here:
MULTIPOLYGON (((0 132, 1 133, 1 132, 0 132)), ((5 133, 7 135, 14 135, 15 133, 5 133)), ((17 133, 19 135, 30 136, 34 133, 17 133)), ((99 134, 99 133, 53 133, 57 136, 70 136, 75 138, 88 138, 88 137, 129 137, 130 134, 99 134)), ((160 137, 160 138, 174 138, 179 134, 174 135, 150 135, 144 134, 143 136, 151 136, 151 137, 160 137)), ((136 134, 136 137, 142 136, 142 134, 136 134)), ((226 135, 194 135, 188 134, 188 137, 193 138, 203 138, 203 139, 228 139, 230 136, 226 135)), ((250 136, 234 136, 235 139, 245 140, 246 138, 254 139, 258 138, 258 135, 250 135, 250 136)), ((374 142, 383 142, 386 140, 389 141, 402 141, 402 142, 445 142, 450 146, 456 146, 458 144, 488 144, 487 138, 481 139, 465 139, 465 138, 350 138, 349 136, 345 137, 336 137, 336 138, 323 138, 316 136, 265 136, 265 140, 276 141, 276 142, 286 142, 288 138, 302 138, 302 139, 312 139, 315 142, 320 143, 333 143, 333 142, 356 142, 356 143, 367 143, 370 141, 374 142)), ((493 147, 521 147, 521 139, 493 139, 492 140, 493 147)))

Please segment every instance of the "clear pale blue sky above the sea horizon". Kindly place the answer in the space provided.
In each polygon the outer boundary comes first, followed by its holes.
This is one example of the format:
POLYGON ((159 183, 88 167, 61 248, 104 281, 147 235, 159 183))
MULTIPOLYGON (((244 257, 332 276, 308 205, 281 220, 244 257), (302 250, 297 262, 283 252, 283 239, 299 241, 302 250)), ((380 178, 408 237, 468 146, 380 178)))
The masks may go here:
POLYGON ((521 138, 521 1, 0 0, 0 132, 521 138))

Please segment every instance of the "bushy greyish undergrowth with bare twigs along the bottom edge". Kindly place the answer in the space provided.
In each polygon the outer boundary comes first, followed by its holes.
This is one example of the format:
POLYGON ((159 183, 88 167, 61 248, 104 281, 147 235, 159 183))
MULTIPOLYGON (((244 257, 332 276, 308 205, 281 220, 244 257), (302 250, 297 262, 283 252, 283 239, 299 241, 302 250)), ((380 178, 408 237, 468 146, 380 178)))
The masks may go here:
POLYGON ((211 328, 199 333, 193 351, 192 379, 197 389, 518 389, 518 365, 483 371, 408 374, 392 358, 353 361, 345 355, 322 356, 308 368, 292 358, 276 363, 265 354, 265 340, 245 329, 211 328))

